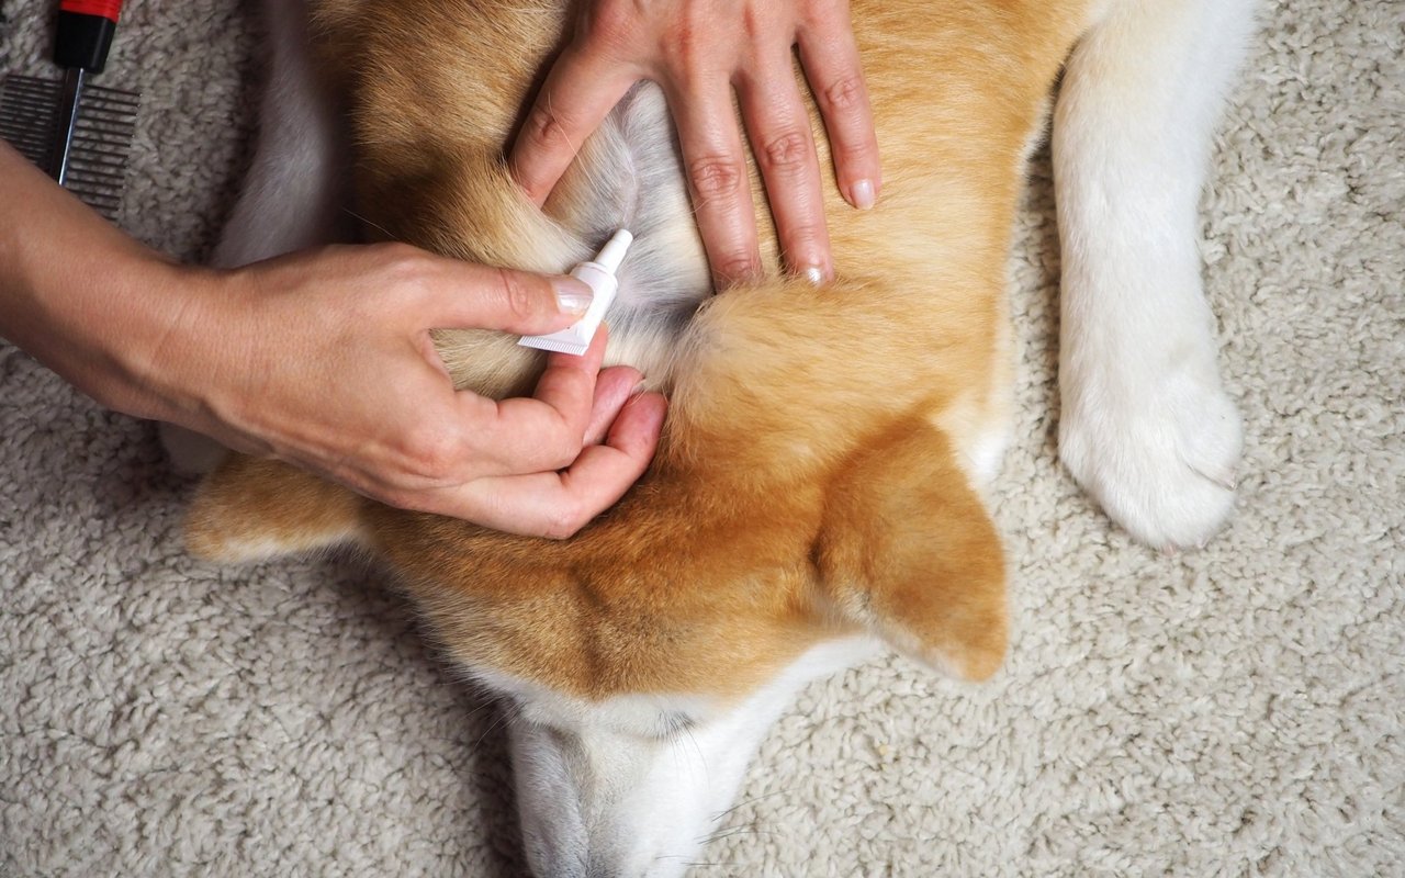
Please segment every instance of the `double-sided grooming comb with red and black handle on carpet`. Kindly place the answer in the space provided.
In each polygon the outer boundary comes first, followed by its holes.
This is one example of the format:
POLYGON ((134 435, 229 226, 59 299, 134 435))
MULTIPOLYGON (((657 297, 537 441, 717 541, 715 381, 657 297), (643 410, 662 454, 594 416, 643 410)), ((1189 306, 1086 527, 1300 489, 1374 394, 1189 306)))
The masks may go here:
POLYGON ((0 93, 0 136, 117 222, 126 156, 136 129, 138 96, 90 86, 117 32, 122 0, 62 0, 53 60, 63 81, 7 76, 0 93))

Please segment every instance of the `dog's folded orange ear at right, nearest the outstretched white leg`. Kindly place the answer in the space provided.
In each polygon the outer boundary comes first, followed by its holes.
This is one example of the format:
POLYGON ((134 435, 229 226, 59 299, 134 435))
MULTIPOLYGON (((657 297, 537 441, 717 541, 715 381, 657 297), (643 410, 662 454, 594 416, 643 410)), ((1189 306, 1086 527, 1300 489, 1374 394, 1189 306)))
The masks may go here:
POLYGON ((825 600, 898 652, 962 680, 1005 660, 1000 539, 934 427, 905 423, 846 468, 816 562, 825 600))

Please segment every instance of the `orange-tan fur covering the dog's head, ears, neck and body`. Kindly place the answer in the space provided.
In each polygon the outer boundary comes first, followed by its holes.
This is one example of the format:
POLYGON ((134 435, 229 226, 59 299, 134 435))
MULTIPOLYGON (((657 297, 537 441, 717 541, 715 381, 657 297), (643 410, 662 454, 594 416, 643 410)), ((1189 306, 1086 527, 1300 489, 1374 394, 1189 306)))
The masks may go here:
MULTIPOLYGON (((563 14, 507 6, 325 0, 323 56, 350 97, 374 228, 559 271, 541 254, 563 232, 525 207, 502 156, 563 14)), ((780 278, 769 239, 771 281, 715 296, 681 353, 636 364, 672 396, 663 443, 645 479, 576 538, 398 511, 236 457, 195 502, 192 549, 299 548, 319 528, 358 537, 457 659, 589 698, 738 695, 863 627, 988 677, 1006 649, 1005 575, 969 461, 1007 414, 1020 159, 1086 6, 853 4, 881 202, 857 212, 830 197, 833 284, 780 278)), ((569 226, 563 185, 552 209, 569 226)), ((510 339, 445 337, 443 350, 462 386, 496 393, 540 368, 510 339)))

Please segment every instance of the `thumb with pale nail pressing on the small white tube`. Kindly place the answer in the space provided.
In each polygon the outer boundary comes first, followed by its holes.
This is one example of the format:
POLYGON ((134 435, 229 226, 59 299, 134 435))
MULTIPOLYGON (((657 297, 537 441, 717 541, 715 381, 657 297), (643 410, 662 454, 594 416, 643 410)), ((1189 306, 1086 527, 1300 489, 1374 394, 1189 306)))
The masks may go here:
MULTIPOLYGON (((451 260, 448 260, 451 261, 451 260)), ((434 329, 497 329, 538 336, 566 329, 586 313, 594 292, 563 274, 532 274, 457 263, 434 309, 434 329)))

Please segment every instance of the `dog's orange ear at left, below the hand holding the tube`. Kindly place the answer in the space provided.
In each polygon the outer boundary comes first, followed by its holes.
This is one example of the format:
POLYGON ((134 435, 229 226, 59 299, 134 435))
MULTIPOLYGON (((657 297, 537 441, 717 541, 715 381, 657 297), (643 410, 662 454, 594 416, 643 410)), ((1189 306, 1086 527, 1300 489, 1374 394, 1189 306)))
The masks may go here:
POLYGON ((360 537, 362 503, 288 464, 232 454, 201 483, 185 518, 185 546, 225 562, 327 548, 360 537))

